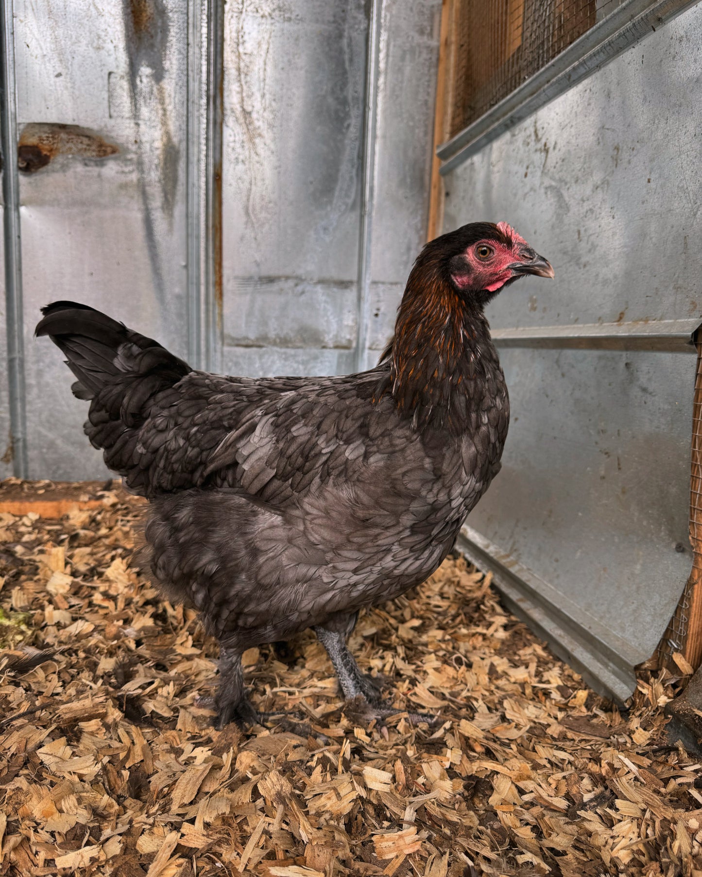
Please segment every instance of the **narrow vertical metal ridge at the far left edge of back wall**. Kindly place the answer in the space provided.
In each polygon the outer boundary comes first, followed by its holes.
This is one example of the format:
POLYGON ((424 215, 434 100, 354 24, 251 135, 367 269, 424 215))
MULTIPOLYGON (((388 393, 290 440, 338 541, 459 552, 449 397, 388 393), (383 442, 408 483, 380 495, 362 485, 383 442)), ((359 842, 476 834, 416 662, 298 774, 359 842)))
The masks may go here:
POLYGON ((25 339, 22 313, 22 242, 19 225, 17 106, 12 0, 3 0, 0 16, 0 145, 3 151, 5 319, 7 382, 10 401, 12 469, 18 478, 29 470, 26 444, 25 339))

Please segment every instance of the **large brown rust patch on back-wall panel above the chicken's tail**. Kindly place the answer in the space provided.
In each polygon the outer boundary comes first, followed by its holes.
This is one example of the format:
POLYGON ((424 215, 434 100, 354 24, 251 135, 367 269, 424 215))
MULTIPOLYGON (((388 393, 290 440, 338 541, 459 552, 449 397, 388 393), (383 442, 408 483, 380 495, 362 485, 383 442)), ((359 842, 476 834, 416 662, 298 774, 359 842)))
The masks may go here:
POLYGON ((97 132, 80 125, 31 122, 22 129, 17 147, 18 168, 33 174, 56 158, 73 155, 84 159, 106 159, 119 152, 97 132))

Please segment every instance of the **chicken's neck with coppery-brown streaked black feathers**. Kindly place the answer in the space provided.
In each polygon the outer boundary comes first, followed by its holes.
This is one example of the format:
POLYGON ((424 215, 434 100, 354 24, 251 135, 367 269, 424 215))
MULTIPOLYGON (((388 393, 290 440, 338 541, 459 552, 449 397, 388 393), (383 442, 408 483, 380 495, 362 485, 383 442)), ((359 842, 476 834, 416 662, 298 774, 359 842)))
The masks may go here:
POLYGON ((499 372, 482 308, 459 296, 438 270, 420 273, 417 266, 388 353, 388 389, 398 413, 418 429, 468 429, 499 372))

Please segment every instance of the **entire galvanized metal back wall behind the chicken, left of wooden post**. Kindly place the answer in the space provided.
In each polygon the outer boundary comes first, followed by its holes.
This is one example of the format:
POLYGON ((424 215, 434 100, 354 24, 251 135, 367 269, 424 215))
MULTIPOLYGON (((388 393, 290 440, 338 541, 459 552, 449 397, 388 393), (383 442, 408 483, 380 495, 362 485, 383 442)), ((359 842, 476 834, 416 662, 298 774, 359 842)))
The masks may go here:
MULTIPOLYGON (((31 477, 105 471, 60 353, 32 339, 54 299, 106 310, 230 374, 339 373, 376 359, 424 241, 440 6, 5 9, 31 477)), ((3 437, 7 394, 0 381, 3 437)))

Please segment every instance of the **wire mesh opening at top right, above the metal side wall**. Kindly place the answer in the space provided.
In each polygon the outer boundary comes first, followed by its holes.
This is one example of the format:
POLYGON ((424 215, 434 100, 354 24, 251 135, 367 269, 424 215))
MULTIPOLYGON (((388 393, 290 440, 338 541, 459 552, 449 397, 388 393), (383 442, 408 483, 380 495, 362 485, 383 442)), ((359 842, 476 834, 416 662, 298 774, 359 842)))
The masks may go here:
POLYGON ((453 137, 533 76, 623 0, 456 0, 453 137))

